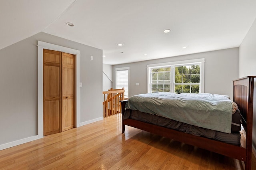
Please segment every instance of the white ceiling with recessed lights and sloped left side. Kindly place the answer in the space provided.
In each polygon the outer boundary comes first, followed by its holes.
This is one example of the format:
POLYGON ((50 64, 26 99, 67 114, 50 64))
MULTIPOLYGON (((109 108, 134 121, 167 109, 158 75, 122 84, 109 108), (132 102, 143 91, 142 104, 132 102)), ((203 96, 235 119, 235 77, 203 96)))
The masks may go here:
POLYGON ((46 32, 103 49, 114 65, 239 47, 255 9, 256 0, 1 0, 0 49, 46 32))

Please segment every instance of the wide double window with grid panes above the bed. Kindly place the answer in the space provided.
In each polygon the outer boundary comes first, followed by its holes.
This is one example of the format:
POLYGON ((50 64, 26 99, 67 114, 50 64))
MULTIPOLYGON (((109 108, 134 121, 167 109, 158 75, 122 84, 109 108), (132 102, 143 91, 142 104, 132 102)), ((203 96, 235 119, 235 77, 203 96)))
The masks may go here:
POLYGON ((204 59, 148 65, 148 93, 204 93, 204 59))

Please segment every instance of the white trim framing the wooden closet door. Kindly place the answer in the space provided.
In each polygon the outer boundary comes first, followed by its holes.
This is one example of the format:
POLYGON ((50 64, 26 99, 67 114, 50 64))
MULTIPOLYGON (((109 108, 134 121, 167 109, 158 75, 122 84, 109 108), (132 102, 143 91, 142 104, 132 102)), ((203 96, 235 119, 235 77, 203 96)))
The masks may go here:
POLYGON ((62 51, 76 55, 76 127, 80 123, 80 51, 51 43, 38 41, 38 138, 44 137, 43 97, 43 49, 62 51))

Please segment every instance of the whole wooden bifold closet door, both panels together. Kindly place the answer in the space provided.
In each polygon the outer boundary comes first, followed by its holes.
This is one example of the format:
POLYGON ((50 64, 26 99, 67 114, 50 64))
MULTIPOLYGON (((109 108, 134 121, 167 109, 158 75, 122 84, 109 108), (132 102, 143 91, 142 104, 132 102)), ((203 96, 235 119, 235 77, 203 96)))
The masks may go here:
POLYGON ((72 54, 44 49, 44 136, 74 127, 74 60, 72 54))

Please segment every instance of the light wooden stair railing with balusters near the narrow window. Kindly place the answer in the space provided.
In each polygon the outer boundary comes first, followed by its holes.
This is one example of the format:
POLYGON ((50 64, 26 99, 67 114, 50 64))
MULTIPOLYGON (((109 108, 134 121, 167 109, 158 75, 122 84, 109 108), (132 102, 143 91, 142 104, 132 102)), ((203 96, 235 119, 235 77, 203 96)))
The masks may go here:
POLYGON ((124 100, 124 88, 122 89, 109 89, 103 91, 104 102, 103 104, 103 117, 108 117, 121 113, 121 104, 119 101, 124 100))

